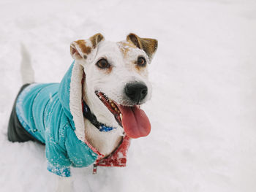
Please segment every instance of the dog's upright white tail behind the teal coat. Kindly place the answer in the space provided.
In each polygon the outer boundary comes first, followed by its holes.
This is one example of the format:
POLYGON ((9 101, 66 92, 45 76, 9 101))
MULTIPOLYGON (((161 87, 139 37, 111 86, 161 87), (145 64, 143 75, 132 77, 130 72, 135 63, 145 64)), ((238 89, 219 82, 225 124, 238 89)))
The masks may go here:
POLYGON ((31 58, 29 51, 26 49, 25 45, 20 44, 21 50, 21 64, 20 64, 20 73, 23 84, 34 82, 34 69, 31 66, 31 58))

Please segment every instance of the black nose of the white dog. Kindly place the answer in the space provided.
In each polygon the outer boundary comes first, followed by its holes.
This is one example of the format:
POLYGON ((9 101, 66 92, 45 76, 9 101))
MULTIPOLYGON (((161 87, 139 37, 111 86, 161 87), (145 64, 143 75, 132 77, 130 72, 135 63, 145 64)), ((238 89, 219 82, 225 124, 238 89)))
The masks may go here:
POLYGON ((128 83, 124 88, 124 93, 138 104, 148 94, 148 88, 141 82, 128 83))

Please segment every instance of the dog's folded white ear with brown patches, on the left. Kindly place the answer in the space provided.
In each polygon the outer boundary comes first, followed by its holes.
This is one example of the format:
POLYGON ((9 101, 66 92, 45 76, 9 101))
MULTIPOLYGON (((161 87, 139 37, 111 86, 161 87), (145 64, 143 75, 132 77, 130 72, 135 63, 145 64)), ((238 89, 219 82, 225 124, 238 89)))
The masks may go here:
POLYGON ((102 34, 94 34, 89 39, 81 39, 72 42, 70 45, 70 54, 76 60, 86 59, 88 55, 97 47, 99 42, 104 40, 102 34))

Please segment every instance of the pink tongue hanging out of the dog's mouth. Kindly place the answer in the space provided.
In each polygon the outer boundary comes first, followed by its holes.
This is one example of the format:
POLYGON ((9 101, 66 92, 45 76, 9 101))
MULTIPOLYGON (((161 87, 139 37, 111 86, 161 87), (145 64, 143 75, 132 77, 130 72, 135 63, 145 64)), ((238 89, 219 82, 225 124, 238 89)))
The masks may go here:
POLYGON ((123 115, 121 122, 128 137, 136 139, 146 137, 150 133, 151 124, 148 117, 138 106, 125 107, 119 105, 118 108, 123 115))

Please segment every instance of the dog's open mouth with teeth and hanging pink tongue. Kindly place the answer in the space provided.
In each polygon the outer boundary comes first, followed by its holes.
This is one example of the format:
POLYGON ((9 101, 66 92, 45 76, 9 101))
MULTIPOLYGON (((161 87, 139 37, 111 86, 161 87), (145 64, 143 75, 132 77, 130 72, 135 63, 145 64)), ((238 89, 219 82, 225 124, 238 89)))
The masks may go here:
POLYGON ((151 124, 146 113, 140 109, 139 105, 124 106, 117 104, 105 93, 95 91, 100 101, 114 115, 117 123, 124 128, 124 132, 130 138, 146 137, 151 131, 151 124))

